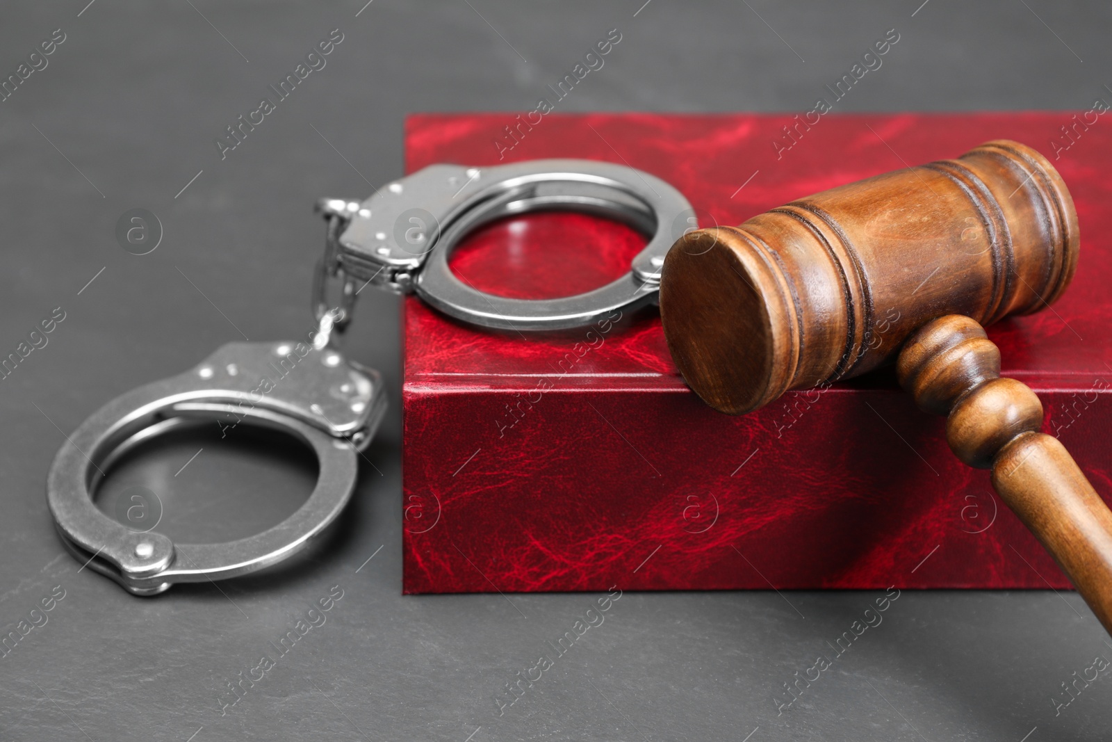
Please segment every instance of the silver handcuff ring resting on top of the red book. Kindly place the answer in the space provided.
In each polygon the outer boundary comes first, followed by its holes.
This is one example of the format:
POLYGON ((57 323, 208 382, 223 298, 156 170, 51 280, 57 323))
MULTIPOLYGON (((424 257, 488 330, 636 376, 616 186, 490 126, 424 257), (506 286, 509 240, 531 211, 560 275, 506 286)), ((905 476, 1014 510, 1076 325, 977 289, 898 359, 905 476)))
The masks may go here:
POLYGON ((595 160, 528 160, 488 168, 431 165, 363 204, 322 199, 318 210, 337 219, 325 269, 345 277, 345 296, 369 281, 416 293, 468 324, 510 330, 587 326, 615 309, 655 303, 665 254, 685 230, 697 227, 687 199, 672 185, 595 160), (648 243, 633 258, 628 274, 556 299, 486 294, 449 268, 453 249, 477 227, 554 209, 613 218, 648 236, 648 243))

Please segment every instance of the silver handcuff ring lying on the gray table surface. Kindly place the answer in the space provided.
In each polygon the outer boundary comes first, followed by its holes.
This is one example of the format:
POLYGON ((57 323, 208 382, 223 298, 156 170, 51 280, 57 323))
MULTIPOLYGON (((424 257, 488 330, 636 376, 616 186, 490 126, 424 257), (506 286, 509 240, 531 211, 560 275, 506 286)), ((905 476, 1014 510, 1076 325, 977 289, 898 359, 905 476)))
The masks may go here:
POLYGON ((378 373, 325 342, 229 343, 183 374, 117 397, 67 437, 47 479, 50 512, 76 558, 137 595, 255 572, 302 550, 344 509, 385 407, 378 373), (100 512, 98 475, 136 445, 196 419, 246 421, 300 439, 319 464, 309 498, 278 525, 222 544, 175 544, 100 512))

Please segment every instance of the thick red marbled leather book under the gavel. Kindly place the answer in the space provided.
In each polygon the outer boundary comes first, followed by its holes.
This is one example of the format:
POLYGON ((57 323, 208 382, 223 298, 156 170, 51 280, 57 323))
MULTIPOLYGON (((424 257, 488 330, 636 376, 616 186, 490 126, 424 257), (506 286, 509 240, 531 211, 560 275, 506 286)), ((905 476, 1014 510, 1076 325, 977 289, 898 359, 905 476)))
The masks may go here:
MULTIPOLYGON (((526 128, 510 113, 417 115, 407 169, 606 160, 669 181, 709 226, 990 139, 1030 145, 1073 195, 1079 268, 1059 303, 989 336, 1003 375, 1039 394, 1044 429, 1109 498, 1104 122, 1086 128, 1072 112, 801 120, 549 113, 526 128)), ((618 224, 538 214, 484 227, 451 266, 495 294, 566 296, 617 278, 643 245, 618 224)), ((523 336, 468 327, 410 296, 404 323, 406 593, 1069 587, 987 473, 953 456, 944 421, 916 409, 890 369, 731 417, 684 385, 653 310, 523 336)))

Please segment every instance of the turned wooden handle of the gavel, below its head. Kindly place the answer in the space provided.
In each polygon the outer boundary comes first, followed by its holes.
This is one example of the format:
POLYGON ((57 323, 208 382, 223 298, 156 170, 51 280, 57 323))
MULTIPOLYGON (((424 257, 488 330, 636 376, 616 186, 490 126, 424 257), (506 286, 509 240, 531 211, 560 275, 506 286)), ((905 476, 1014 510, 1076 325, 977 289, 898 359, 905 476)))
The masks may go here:
POLYGON ((904 345, 900 384, 920 407, 946 415, 963 462, 992 468, 992 484, 1050 552, 1112 634, 1112 512, 1058 438, 1039 431, 1042 404, 1000 376, 1000 349, 975 320, 934 319, 904 345))

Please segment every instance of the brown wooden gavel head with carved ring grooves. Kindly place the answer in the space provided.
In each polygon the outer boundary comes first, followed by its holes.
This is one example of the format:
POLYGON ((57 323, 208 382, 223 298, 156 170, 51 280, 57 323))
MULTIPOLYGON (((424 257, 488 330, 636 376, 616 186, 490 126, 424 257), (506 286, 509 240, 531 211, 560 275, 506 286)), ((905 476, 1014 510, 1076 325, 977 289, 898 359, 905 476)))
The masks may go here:
POLYGON ((691 387, 742 414, 891 362, 936 317, 1037 311, 1078 246, 1054 167, 995 140, 688 233, 665 259, 661 316, 691 387))

